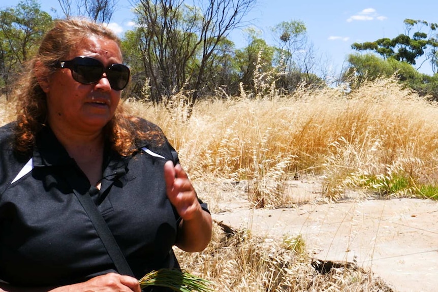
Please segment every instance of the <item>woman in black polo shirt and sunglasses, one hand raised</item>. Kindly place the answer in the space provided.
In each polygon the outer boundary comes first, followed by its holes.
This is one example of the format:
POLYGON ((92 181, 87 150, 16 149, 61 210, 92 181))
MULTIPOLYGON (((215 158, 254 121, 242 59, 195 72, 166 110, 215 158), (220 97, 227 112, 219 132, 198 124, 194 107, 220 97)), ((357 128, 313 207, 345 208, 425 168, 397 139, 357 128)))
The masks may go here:
MULTIPOLYGON (((211 216, 161 129, 123 114, 129 69, 118 38, 93 22, 57 21, 0 128, 0 291, 140 291, 137 278, 178 268, 211 216), (133 276, 117 273, 75 192, 97 205, 133 276)), ((153 291, 167 291, 154 289, 153 291)))

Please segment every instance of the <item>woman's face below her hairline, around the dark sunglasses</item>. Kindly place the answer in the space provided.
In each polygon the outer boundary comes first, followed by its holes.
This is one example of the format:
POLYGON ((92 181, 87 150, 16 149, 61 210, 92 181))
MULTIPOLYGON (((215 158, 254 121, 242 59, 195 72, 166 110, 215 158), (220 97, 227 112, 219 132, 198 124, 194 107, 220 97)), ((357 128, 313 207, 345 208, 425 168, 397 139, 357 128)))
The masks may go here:
MULTIPOLYGON (((65 60, 78 56, 96 58, 105 68, 122 62, 117 43, 98 37, 82 42, 65 60)), ((47 95, 49 124, 63 131, 101 131, 114 116, 121 93, 111 88, 105 76, 96 83, 82 84, 73 79, 70 69, 57 69, 41 86, 47 95)))

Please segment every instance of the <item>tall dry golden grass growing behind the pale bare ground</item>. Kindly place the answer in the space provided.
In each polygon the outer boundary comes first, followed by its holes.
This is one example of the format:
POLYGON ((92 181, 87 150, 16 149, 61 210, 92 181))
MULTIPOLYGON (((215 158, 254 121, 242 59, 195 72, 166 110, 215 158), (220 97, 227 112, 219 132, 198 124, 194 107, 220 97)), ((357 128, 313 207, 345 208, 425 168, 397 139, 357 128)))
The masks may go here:
MULTIPOLYGON (((393 79, 345 94, 339 88, 293 96, 199 102, 189 120, 184 96, 172 107, 130 104, 160 126, 193 179, 249 180, 258 206, 287 204, 283 182, 324 177, 328 197, 370 179, 436 179, 436 105, 393 79)), ((367 183, 367 185, 365 185, 367 183)))

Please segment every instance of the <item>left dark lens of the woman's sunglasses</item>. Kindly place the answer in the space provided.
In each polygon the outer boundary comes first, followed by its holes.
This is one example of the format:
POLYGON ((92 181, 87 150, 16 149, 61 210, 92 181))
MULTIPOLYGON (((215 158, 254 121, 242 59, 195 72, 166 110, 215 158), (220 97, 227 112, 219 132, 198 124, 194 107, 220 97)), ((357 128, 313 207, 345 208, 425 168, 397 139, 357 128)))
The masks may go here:
POLYGON ((81 83, 91 84, 98 81, 103 74, 102 63, 91 58, 75 58, 73 78, 81 83))

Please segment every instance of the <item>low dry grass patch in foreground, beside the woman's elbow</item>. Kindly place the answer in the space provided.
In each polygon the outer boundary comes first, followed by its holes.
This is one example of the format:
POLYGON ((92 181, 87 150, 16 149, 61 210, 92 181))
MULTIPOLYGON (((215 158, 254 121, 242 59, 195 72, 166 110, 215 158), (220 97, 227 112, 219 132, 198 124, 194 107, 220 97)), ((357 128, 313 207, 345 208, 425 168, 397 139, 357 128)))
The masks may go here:
POLYGON ((218 292, 393 292, 379 277, 354 265, 320 274, 310 265, 300 238, 278 242, 245 231, 225 233, 214 224, 205 251, 175 251, 184 269, 212 281, 218 292))

